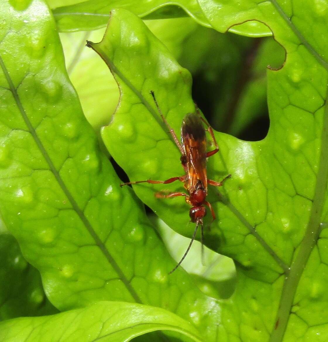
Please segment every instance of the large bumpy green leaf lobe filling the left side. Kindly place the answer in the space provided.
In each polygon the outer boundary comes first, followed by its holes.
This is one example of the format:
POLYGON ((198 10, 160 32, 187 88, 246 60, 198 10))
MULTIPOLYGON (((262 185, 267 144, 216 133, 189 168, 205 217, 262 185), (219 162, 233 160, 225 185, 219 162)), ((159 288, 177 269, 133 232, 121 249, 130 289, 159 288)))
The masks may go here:
POLYGON ((212 341, 215 300, 182 268, 168 275, 174 260, 83 116, 47 6, 5 2, 0 15, 0 210, 49 300, 164 307, 212 341))

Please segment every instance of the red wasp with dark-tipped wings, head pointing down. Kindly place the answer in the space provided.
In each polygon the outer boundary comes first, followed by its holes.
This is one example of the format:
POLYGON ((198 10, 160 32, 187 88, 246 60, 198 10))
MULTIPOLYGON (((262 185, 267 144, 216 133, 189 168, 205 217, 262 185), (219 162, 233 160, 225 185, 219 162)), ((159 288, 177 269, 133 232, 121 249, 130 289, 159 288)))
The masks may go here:
POLYGON ((157 198, 171 198, 171 197, 177 197, 177 196, 185 196, 186 202, 192 206, 192 208, 189 210, 189 216, 191 218, 191 222, 196 223, 195 231, 190 241, 190 244, 187 250, 185 251, 183 257, 179 261, 179 263, 169 273, 171 274, 180 266, 180 264, 183 262, 184 258, 188 254, 189 249, 191 248, 191 245, 195 239, 199 225, 201 227, 201 243, 202 243, 203 237, 204 237, 203 218, 206 215, 205 206, 208 206, 210 208, 213 221, 215 220, 214 210, 211 204, 208 201, 206 201, 206 195, 208 193, 207 184, 214 185, 214 186, 222 186, 223 182, 227 178, 231 177, 231 174, 227 175, 221 182, 215 182, 207 178, 206 158, 211 157, 215 153, 217 153, 219 151, 219 146, 218 146, 217 141, 215 140, 212 128, 207 123, 207 121, 204 120, 199 115, 198 109, 197 109, 197 114, 188 113, 183 118, 182 126, 181 126, 181 143, 180 143, 174 130, 170 127, 169 123, 166 121, 165 117, 163 116, 158 106, 158 103, 156 101, 154 92, 151 91, 150 94, 152 94, 156 107, 159 111, 159 114, 161 118, 163 119, 163 121, 165 122, 166 126, 169 128, 172 138, 176 146, 178 146, 181 152, 180 160, 181 160, 183 169, 186 174, 184 176, 169 178, 166 181, 153 181, 153 180, 147 179, 145 181, 123 183, 121 184, 121 186, 137 184, 137 183, 169 184, 178 180, 184 183, 184 188, 187 190, 188 194, 183 193, 183 192, 171 192, 168 194, 159 192, 155 194, 157 198), (206 131, 208 131, 211 134, 213 143, 215 145, 215 149, 209 152, 206 152, 206 135, 205 135, 205 129, 204 129, 202 122, 206 124, 207 126, 206 131))

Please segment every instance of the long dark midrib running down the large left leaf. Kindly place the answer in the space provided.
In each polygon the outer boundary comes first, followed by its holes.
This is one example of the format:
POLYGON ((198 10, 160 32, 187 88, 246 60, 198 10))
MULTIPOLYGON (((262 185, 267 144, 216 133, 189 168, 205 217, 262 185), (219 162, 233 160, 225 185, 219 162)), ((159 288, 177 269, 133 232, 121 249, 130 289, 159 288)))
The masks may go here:
POLYGON ((124 273, 122 272, 122 270, 120 269, 120 267, 118 266, 118 264, 116 263, 115 259, 113 258, 113 256, 109 253, 108 249, 106 248, 106 246, 104 245, 104 243, 101 241, 101 239, 99 238, 99 236, 97 235, 97 233, 95 232, 95 230, 93 229, 91 223, 89 222, 89 220, 86 218, 86 216, 84 215, 83 211, 79 208, 77 202, 75 201, 73 195, 69 192, 68 188, 66 187, 64 181, 62 180, 59 172, 56 170, 50 156, 48 155, 45 147, 43 146, 41 140, 39 139, 34 127, 32 126, 31 122, 28 119, 28 116, 25 112, 25 109, 21 103, 21 100, 18 96, 17 90, 11 80, 11 77, 8 73, 8 70, 2 60, 2 57, 0 55, 0 66, 2 68, 2 71, 5 75, 5 78, 9 84, 9 88, 11 93, 13 94, 14 100, 16 102, 16 105, 22 115, 22 118, 30 132, 30 134, 32 135, 35 143, 37 144, 42 156, 44 157, 45 161, 47 162, 50 171, 53 173, 56 181, 58 182, 58 184, 60 185, 61 189, 63 190, 64 194, 66 195, 66 197, 68 198, 69 202, 71 203, 72 208, 74 209, 74 211, 78 214, 79 218, 81 219, 83 225, 86 227, 87 231, 89 232, 89 234, 92 236, 92 238, 95 241, 95 244, 99 247, 99 249, 102 251, 102 253, 104 254, 105 258, 107 259, 107 261, 110 263, 110 265, 114 268, 115 272, 117 273, 117 275, 119 276, 119 278, 121 279, 121 281, 123 282, 123 284, 125 285, 125 287, 127 288, 127 290, 130 292, 132 298, 137 302, 137 303, 142 303, 141 299, 139 298, 139 296, 137 295, 136 291, 133 289, 133 287, 131 286, 129 280, 126 278, 126 276, 124 275, 124 273))

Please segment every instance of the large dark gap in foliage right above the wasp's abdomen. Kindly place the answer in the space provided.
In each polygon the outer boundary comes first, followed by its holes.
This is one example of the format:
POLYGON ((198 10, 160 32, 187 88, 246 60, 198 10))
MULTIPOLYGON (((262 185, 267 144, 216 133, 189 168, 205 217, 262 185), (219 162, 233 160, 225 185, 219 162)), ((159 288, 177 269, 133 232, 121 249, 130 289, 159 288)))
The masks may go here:
POLYGON ((194 101, 215 130, 248 141, 263 139, 269 128, 266 69, 283 65, 284 49, 273 38, 218 32, 212 43, 204 64, 193 72, 194 101))

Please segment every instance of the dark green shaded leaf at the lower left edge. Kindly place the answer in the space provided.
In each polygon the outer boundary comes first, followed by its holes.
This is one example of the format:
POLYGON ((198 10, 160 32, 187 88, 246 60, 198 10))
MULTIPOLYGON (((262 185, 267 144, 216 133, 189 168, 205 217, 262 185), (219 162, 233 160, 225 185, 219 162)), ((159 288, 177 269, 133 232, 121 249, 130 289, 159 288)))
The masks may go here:
POLYGON ((40 273, 9 234, 0 234, 0 279, 0 320, 57 312, 45 297, 40 273))

